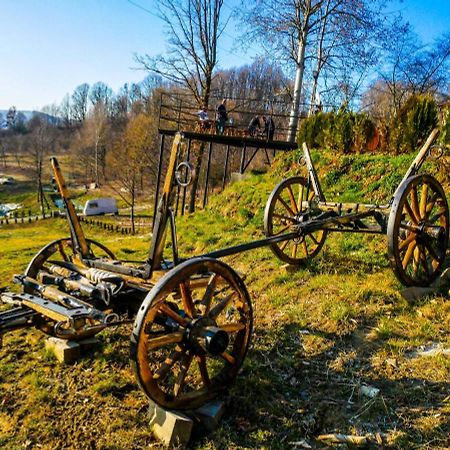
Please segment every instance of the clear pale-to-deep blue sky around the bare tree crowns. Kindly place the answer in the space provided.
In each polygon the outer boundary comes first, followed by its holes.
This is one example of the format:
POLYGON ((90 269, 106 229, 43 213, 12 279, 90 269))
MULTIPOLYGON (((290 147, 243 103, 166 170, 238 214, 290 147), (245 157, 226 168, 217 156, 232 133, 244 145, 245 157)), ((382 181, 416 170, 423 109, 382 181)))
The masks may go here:
MULTIPOLYGON (((238 0, 226 0, 231 11, 238 0)), ((114 90, 140 81, 133 54, 164 51, 160 20, 134 4, 154 10, 154 0, 0 0, 0 109, 40 109, 59 103, 87 82, 104 81, 114 90)), ((448 30, 450 0, 395 0, 393 10, 426 41, 448 30)), ((233 49, 233 23, 220 44, 222 67, 250 62, 233 49)))

